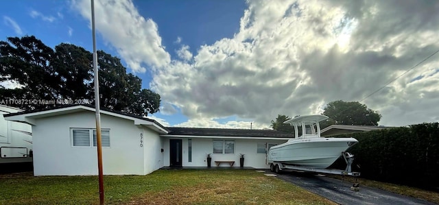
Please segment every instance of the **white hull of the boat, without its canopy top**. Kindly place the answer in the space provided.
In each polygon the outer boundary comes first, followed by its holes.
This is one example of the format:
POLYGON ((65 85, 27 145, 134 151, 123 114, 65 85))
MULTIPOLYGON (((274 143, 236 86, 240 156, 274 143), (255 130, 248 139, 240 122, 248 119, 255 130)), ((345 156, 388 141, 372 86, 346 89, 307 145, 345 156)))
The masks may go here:
POLYGON ((355 138, 304 138, 271 147, 268 160, 287 165, 325 169, 346 149, 357 143, 355 138))

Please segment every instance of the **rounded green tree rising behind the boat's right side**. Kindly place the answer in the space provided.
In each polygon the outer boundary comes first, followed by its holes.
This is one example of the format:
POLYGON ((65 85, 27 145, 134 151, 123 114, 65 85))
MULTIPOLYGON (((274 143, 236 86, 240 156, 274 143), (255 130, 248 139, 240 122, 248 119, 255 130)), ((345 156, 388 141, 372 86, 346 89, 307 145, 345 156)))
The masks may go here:
POLYGON ((357 101, 331 101, 324 108, 322 114, 330 118, 321 123, 323 128, 331 124, 377 126, 381 119, 381 114, 378 111, 371 110, 357 101))

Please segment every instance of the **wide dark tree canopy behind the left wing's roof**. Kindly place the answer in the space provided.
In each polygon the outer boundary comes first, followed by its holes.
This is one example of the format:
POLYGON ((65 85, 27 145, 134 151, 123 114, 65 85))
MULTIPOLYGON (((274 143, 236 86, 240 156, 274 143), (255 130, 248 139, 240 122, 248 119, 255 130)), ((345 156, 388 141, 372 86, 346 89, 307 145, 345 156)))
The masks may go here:
MULTIPOLYGON (((16 82, 17 88, 0 85, 3 99, 80 100, 94 104, 93 56, 82 47, 61 43, 51 49, 35 36, 0 41, 0 82, 16 82)), ((158 111, 160 95, 142 89, 142 80, 126 73, 121 60, 97 51, 100 106, 147 115, 158 111)), ((55 104, 14 104, 25 110, 55 104)))

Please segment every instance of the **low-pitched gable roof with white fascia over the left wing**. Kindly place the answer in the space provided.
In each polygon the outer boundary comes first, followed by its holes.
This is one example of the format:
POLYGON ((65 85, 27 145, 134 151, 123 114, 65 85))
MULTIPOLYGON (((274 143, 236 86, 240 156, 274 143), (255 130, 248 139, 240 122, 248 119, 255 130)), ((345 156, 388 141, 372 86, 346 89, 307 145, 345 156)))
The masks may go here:
MULTIPOLYGON (((6 120, 19 121, 19 122, 35 125, 36 123, 35 119, 80 112, 84 110, 95 112, 95 106, 72 104, 72 105, 56 106, 53 108, 26 110, 24 112, 4 114, 3 117, 5 117, 6 120)), ((114 117, 133 120, 134 125, 146 125, 152 130, 156 130, 156 132, 158 133, 161 134, 168 133, 168 130, 163 125, 161 125, 161 123, 158 123, 154 119, 148 119, 145 117, 140 117, 138 115, 130 114, 126 112, 110 110, 108 108, 100 108, 99 110, 102 114, 108 114, 114 117)))

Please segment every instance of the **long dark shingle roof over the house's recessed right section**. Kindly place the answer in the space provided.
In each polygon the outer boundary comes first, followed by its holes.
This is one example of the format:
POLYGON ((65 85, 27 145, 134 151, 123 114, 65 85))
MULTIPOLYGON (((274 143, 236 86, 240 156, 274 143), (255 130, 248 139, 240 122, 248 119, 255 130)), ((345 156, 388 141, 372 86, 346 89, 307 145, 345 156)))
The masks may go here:
POLYGON ((293 138, 294 134, 284 133, 276 130, 245 130, 245 129, 226 129, 226 128, 176 128, 167 127, 170 135, 189 135, 189 136, 244 136, 244 137, 273 137, 273 138, 293 138))

